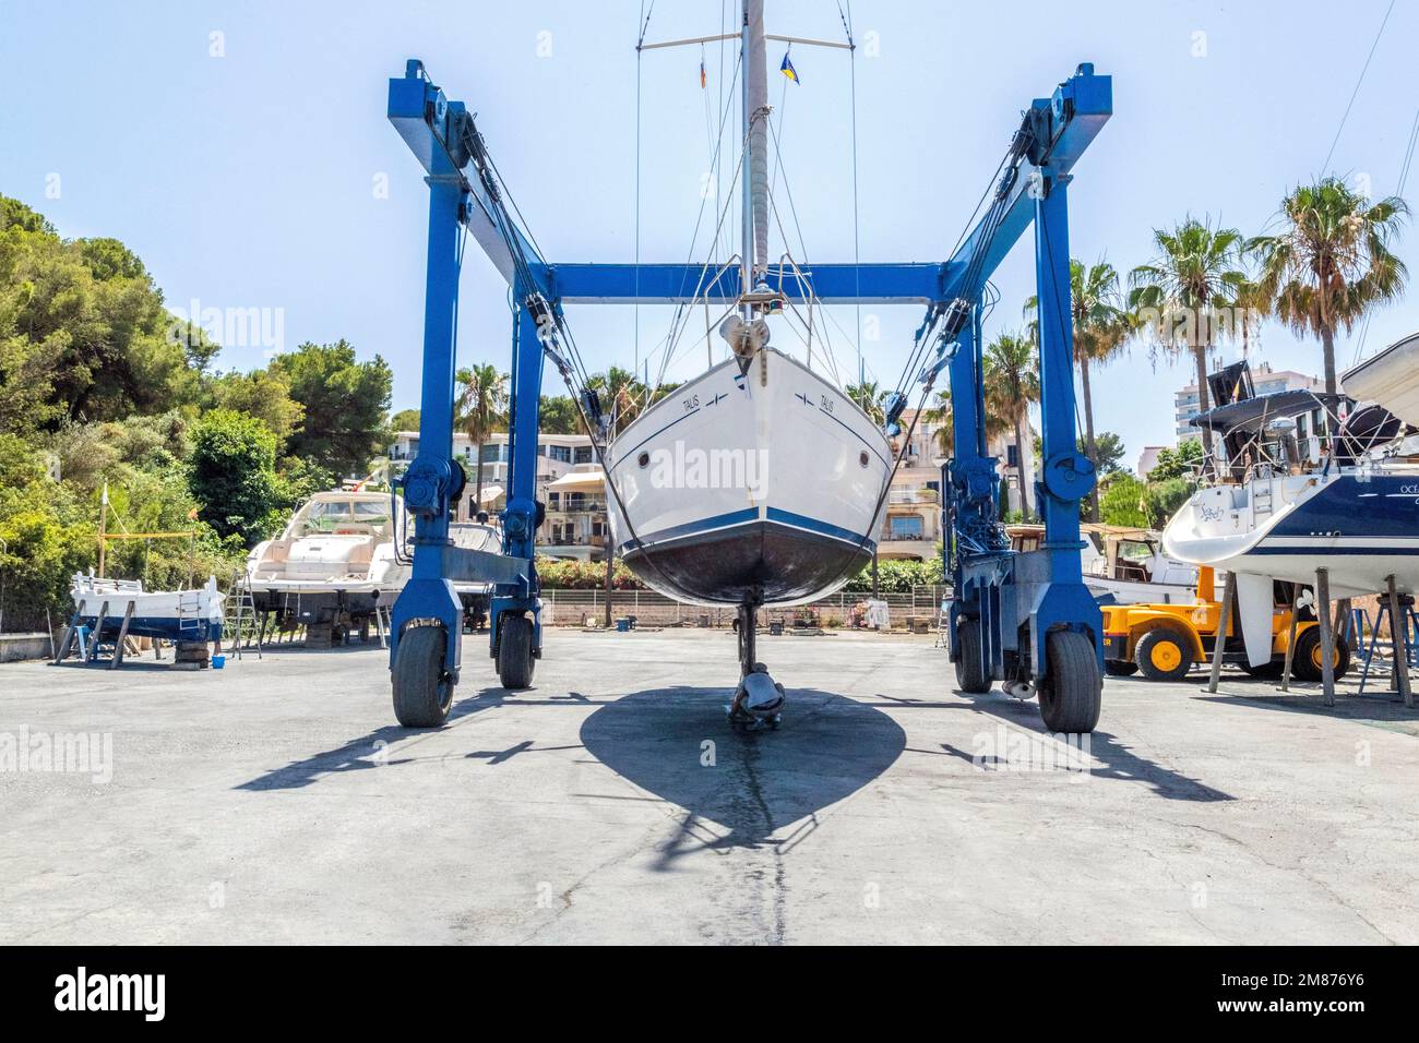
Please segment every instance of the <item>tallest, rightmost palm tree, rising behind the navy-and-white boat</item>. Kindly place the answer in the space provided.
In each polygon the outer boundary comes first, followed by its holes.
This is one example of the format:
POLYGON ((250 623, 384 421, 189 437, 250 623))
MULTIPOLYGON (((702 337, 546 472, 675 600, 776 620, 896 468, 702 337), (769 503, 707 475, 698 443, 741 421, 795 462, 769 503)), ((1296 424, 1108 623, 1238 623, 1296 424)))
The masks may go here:
POLYGON ((1408 271, 1389 250, 1409 206, 1398 196, 1371 203, 1338 177, 1301 184, 1281 200, 1281 230, 1246 244, 1276 315, 1318 336, 1325 393, 1335 394, 1335 332, 1348 333, 1378 304, 1398 299, 1408 271))

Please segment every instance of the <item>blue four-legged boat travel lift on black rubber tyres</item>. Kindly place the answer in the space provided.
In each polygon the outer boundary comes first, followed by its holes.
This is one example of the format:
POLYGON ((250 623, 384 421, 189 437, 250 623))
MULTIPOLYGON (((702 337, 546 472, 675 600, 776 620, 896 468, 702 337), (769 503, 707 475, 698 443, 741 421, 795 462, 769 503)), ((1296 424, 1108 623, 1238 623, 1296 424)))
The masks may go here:
MULTIPOLYGON (((1094 488, 1090 461, 1076 447, 1070 325, 1067 184, 1070 170, 1112 114, 1110 77, 1084 64, 1050 98, 1036 99, 1016 131, 986 213, 955 255, 927 264, 819 264, 807 280, 771 271, 773 291, 819 304, 924 304, 918 331, 928 365, 921 383, 949 372, 955 456, 942 470, 951 518, 951 657, 959 688, 982 692, 995 680, 1040 695, 1046 725, 1093 731, 1103 677, 1101 619, 1083 583, 1078 505, 1094 488), (998 461, 988 456, 981 322, 986 281, 1034 223, 1039 295, 1044 517, 1039 551, 1016 553, 999 522, 998 461), (929 338, 924 341, 924 338, 929 338)), ((406 727, 444 722, 458 683, 463 610, 453 579, 490 582, 490 654, 505 688, 532 683, 542 654, 534 534, 538 406, 543 359, 576 380, 566 304, 690 304, 698 297, 738 301, 739 271, 727 267, 708 288, 692 264, 551 264, 512 219, 497 166, 474 116, 448 101, 420 61, 389 81, 389 119, 427 172, 429 270, 424 299, 423 394, 419 454, 400 478, 414 518, 413 575, 394 603, 390 670, 394 712, 406 727), (458 274, 471 236, 511 287, 515 308, 509 417, 508 501, 502 553, 465 551, 448 538, 463 492, 453 458, 458 274), (695 288, 698 287, 698 295, 695 288)), ((985 202, 985 200, 983 200, 985 202)), ((514 207, 515 209, 515 207, 514 207)), ((519 214, 521 217, 521 214, 519 214)), ((752 289, 745 287, 744 289, 752 289)), ((575 399, 593 441, 604 420, 585 385, 575 399)), ((925 393, 924 393, 925 397, 925 393)), ((888 429, 907 404, 895 394, 888 429)))

